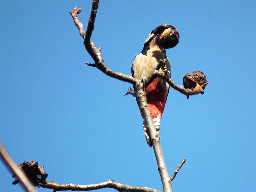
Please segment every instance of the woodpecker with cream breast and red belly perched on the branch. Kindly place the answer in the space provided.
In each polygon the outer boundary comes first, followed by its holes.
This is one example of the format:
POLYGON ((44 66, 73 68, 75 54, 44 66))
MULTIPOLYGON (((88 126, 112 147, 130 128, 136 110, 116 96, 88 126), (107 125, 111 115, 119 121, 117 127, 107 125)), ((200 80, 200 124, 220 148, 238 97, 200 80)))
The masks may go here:
MULTIPOLYGON (((154 30, 149 33, 141 53, 136 55, 133 59, 132 76, 145 82, 151 76, 158 63, 165 61, 165 66, 161 66, 159 71, 167 70, 167 74, 171 78, 171 64, 166 57, 166 49, 175 47, 179 39, 180 35, 178 30, 169 24, 161 24, 154 28, 154 30)), ((161 78, 155 78, 152 83, 147 86, 145 92, 148 108, 158 134, 160 131, 160 119, 162 118, 168 97, 169 84, 161 78)), ((142 111, 140 112, 144 119, 142 111)), ((143 121, 143 131, 147 144, 151 148, 152 142, 147 134, 145 119, 143 121)))

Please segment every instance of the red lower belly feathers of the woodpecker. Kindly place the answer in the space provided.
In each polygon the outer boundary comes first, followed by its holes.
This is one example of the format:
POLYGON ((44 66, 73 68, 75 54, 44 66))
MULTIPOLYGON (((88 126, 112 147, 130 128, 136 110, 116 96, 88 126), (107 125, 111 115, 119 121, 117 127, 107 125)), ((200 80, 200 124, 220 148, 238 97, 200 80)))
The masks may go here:
MULTIPOLYGON (((158 115, 162 118, 164 112, 164 106, 166 103, 166 89, 163 89, 161 85, 161 79, 156 78, 146 89, 147 104, 152 117, 157 117, 158 115)), ((143 114, 140 111, 142 117, 143 114)), ((144 119, 144 117, 143 117, 144 119)))

